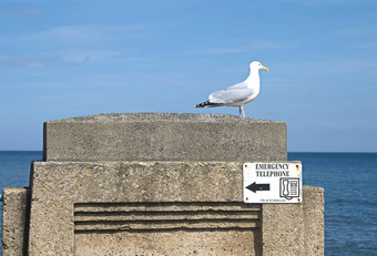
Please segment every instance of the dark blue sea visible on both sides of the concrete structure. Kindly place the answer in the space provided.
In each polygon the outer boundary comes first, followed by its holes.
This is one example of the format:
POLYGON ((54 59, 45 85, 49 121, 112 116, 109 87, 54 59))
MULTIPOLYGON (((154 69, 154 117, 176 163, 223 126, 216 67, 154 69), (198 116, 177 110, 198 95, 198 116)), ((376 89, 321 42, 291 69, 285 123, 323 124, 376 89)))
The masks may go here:
MULTIPOLYGON (((41 158, 40 151, 0 151, 0 193, 28 186, 30 163, 41 158)), ((304 185, 325 188, 325 255, 377 255, 377 153, 288 153, 288 160, 302 161, 304 185)))

